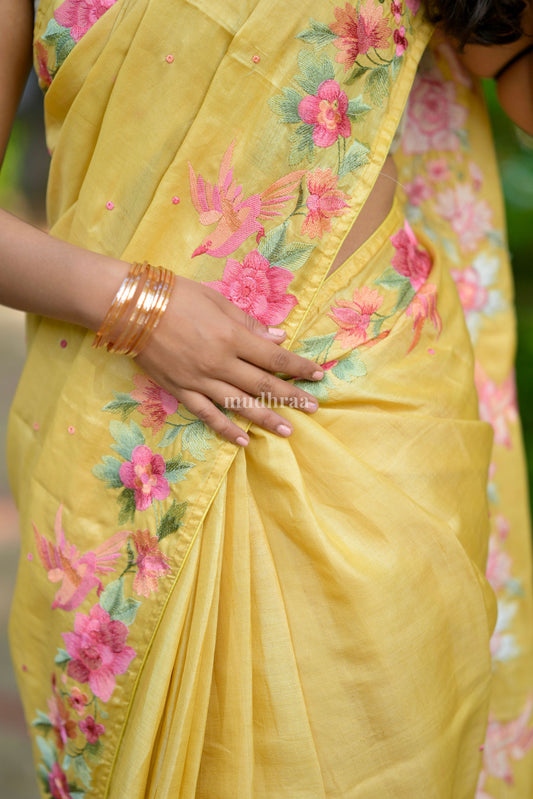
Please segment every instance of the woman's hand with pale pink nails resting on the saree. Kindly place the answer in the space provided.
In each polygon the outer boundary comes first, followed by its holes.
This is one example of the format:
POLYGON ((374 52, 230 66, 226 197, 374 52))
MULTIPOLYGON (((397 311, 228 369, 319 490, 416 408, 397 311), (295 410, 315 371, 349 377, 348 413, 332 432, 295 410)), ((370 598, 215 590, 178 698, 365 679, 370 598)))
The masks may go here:
POLYGON ((177 277, 165 314, 136 358, 144 371, 216 433, 245 446, 246 433, 216 407, 288 436, 290 423, 257 397, 312 413, 316 399, 275 372, 320 380, 315 363, 279 346, 282 330, 267 328, 209 286, 177 277), (274 332, 272 332, 274 331, 274 332))

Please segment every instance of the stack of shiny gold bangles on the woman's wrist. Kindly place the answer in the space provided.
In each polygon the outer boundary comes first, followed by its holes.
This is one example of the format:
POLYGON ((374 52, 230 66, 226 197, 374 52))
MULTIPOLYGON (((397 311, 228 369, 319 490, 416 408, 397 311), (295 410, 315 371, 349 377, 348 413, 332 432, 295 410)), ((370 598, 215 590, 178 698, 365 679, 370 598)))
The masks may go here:
POLYGON ((108 352, 132 358, 139 355, 165 313, 173 287, 174 273, 169 269, 151 266, 146 261, 132 264, 93 347, 106 347, 108 352))

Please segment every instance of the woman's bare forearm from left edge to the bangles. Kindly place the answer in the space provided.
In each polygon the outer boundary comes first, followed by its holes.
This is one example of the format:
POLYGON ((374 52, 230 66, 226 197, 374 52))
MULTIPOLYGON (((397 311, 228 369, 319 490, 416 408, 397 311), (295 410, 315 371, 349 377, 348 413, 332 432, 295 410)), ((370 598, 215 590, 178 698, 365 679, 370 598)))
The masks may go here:
POLYGON ((0 210, 0 303, 96 330, 129 264, 60 241, 0 210))

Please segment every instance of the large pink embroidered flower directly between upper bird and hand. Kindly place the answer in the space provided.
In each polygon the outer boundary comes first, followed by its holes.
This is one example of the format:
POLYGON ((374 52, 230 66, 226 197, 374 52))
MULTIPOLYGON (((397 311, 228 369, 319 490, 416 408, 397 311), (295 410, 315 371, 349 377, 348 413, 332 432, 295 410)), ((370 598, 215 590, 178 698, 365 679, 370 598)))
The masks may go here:
POLYGON ((287 294, 292 272, 270 262, 252 250, 242 264, 228 258, 222 280, 206 283, 220 291, 247 314, 264 325, 279 325, 298 304, 294 294, 287 294))

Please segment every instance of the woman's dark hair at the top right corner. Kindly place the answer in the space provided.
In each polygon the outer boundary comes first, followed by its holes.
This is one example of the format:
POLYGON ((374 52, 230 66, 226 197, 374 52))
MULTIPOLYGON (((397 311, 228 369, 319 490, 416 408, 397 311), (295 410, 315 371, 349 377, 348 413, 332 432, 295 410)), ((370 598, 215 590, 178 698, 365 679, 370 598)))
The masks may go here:
POLYGON ((424 0, 431 22, 464 44, 505 44, 522 34, 525 0, 424 0))

